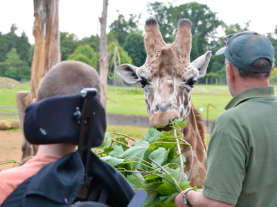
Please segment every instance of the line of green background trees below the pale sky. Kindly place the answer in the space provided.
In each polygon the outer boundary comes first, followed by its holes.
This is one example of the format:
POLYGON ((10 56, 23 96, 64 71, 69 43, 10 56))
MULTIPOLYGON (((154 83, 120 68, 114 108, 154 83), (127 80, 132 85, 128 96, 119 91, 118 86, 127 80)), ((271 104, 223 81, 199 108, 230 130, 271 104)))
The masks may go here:
MULTIPOLYGON (((192 51, 190 59, 193 61, 207 50, 213 54, 222 47, 226 34, 249 30, 249 22, 244 26, 238 23, 226 25, 217 19, 216 12, 212 12, 208 6, 200 3, 186 3, 180 6, 172 6, 170 3, 148 3, 148 12, 159 21, 159 28, 163 39, 167 43, 175 40, 179 19, 184 17, 193 23, 192 51), (218 34, 223 30, 224 34, 218 34)), ((129 14, 129 19, 123 14, 118 14, 118 19, 109 26, 107 34, 108 50, 113 51, 110 59, 109 79, 113 79, 114 66, 120 63, 132 63, 134 66, 142 66, 146 59, 143 43, 143 29, 139 26, 141 14, 129 14)), ((0 76, 22 80, 30 79, 30 66, 33 58, 33 46, 28 43, 28 38, 23 32, 21 37, 15 34, 15 24, 10 32, 0 32, 0 76)), ((266 35, 272 42, 277 55, 277 26, 276 30, 266 35)), ((78 60, 97 68, 100 58, 100 38, 91 35, 78 39, 75 34, 60 32, 60 50, 62 61, 78 60)), ((276 60, 275 60, 275 64, 276 60)), ((213 55, 208 66, 206 77, 225 77, 224 58, 213 55)))

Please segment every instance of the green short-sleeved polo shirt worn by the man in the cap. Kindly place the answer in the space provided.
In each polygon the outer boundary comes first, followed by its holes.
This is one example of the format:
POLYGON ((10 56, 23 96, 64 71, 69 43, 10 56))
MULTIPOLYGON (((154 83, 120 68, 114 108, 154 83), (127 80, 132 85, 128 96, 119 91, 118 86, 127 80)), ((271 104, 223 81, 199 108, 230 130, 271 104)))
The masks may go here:
POLYGON ((240 92, 214 121, 203 194, 235 206, 277 206, 274 87, 240 92))

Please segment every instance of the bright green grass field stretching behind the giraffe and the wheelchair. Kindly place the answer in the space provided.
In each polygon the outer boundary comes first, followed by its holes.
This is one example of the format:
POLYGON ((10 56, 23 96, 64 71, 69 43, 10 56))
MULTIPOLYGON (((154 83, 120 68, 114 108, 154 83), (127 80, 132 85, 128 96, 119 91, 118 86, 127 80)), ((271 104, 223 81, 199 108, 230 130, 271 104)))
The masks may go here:
MULTIPOLYGON (((17 106, 16 92, 30 90, 30 83, 24 83, 24 88, 1 89, 0 106, 17 106)), ((109 86, 107 89, 107 113, 148 116, 145 108, 144 93, 137 88, 119 88, 109 86)), ((201 111, 203 118, 214 120, 231 100, 226 85, 196 85, 192 95, 193 105, 201 111)), ((0 113, 17 113, 17 108, 0 108, 0 113)), ((3 119, 3 116, 0 116, 3 119)), ((7 119, 5 117, 5 119, 7 119)))

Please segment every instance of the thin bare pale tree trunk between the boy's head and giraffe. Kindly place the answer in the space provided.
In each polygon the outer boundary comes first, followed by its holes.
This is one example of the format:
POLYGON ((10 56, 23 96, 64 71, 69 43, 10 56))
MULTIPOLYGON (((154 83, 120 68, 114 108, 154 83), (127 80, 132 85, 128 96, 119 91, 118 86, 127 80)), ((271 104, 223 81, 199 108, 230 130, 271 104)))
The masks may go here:
POLYGON ((100 82, 101 82, 101 103, 106 108, 107 105, 107 81, 109 73, 109 58, 111 57, 111 51, 107 52, 107 9, 108 0, 103 0, 103 10, 102 17, 99 18, 100 21, 100 82))

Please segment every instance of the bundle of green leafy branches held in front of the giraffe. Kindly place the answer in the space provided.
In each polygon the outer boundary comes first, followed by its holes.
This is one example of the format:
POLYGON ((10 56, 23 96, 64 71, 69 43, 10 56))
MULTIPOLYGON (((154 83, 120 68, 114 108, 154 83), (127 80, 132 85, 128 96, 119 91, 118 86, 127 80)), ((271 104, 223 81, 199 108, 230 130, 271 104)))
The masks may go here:
POLYGON ((181 155, 183 145, 190 144, 176 132, 181 126, 186 126, 183 120, 172 121, 166 132, 152 127, 142 140, 133 140, 132 147, 128 146, 132 138, 107 132, 104 144, 93 152, 122 172, 135 190, 148 191, 144 206, 175 206, 176 195, 190 188, 184 173, 186 158, 181 155))

